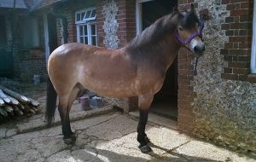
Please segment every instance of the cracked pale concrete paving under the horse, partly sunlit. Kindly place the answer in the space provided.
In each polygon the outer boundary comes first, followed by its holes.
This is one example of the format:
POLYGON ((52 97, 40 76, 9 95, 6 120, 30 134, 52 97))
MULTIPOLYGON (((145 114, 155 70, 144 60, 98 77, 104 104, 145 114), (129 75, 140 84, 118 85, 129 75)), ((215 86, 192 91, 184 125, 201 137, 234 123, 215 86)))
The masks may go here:
POLYGON ((153 152, 144 154, 137 148, 137 118, 109 107, 92 111, 98 115, 84 113, 85 119, 73 113, 73 146, 64 144, 60 125, 46 129, 42 119, 1 124, 0 161, 256 161, 150 121, 146 133, 153 152))

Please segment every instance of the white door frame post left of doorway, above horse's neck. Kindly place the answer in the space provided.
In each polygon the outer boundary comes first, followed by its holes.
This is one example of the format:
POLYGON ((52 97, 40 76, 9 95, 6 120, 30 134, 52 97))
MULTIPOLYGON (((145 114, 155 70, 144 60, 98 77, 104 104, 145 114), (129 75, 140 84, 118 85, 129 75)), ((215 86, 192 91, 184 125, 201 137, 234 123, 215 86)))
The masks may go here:
POLYGON ((136 32, 137 35, 143 32, 143 9, 142 3, 146 3, 153 0, 136 0, 136 32))

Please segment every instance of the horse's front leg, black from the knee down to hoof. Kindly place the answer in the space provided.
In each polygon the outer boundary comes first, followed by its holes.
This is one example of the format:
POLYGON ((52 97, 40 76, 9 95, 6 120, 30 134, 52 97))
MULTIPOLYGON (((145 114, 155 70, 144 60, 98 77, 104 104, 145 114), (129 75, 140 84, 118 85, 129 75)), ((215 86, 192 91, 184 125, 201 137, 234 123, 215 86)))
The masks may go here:
POLYGON ((146 124, 148 122, 148 110, 153 101, 154 95, 140 95, 139 101, 139 123, 137 125, 137 141, 140 143, 139 148, 143 153, 148 153, 152 149, 148 146, 148 137, 145 133, 146 124))

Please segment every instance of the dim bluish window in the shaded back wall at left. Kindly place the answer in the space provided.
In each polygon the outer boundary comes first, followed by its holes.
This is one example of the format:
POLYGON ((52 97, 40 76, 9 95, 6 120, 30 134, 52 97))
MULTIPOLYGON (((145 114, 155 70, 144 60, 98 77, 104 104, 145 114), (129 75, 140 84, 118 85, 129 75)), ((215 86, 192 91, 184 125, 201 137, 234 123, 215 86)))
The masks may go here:
POLYGON ((32 17, 25 18, 22 22, 23 46, 35 48, 40 46, 38 20, 32 17))

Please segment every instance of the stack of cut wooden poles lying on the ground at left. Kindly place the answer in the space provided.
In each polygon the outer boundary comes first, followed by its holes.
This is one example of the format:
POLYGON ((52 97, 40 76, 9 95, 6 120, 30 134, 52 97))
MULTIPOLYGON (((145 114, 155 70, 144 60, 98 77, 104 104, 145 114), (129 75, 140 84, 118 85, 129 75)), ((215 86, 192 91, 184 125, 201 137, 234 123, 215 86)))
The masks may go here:
POLYGON ((40 104, 31 98, 0 85, 0 119, 8 116, 31 116, 40 109, 40 104))

